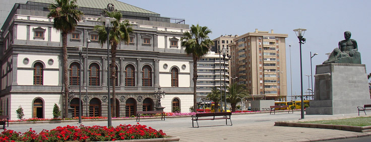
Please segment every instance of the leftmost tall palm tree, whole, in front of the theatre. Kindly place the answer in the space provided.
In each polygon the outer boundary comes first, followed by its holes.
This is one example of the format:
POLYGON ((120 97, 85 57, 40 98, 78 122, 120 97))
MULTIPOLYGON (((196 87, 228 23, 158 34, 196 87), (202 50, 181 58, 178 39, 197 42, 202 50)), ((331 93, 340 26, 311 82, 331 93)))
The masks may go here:
POLYGON ((64 118, 68 117, 68 66, 67 66, 67 35, 73 31, 77 26, 77 22, 81 20, 84 15, 79 11, 79 6, 76 4, 77 0, 55 0, 56 4, 49 6, 50 13, 48 18, 54 18, 53 27, 61 31, 62 35, 62 49, 63 49, 63 85, 65 87, 65 114, 64 118))

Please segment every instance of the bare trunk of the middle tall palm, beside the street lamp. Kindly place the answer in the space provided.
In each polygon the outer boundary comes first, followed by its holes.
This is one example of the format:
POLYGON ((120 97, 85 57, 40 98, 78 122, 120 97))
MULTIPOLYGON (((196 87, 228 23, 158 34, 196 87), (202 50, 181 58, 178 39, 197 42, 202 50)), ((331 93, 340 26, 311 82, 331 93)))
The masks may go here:
POLYGON ((116 47, 111 46, 111 76, 112 76, 112 117, 116 117, 116 47))

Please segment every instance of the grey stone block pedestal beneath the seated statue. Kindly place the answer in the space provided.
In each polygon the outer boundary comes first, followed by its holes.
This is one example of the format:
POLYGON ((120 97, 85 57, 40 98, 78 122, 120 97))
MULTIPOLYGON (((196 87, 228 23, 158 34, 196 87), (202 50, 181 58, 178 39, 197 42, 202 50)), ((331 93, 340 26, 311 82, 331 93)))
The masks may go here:
POLYGON ((363 64, 330 63, 316 66, 314 100, 306 114, 357 113, 357 106, 371 104, 363 64))

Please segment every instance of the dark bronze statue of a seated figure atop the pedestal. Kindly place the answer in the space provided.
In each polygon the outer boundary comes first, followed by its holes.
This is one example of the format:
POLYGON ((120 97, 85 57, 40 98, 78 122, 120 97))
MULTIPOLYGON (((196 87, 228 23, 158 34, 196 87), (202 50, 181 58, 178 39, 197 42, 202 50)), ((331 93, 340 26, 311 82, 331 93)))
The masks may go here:
POLYGON ((329 59, 323 62, 327 63, 350 63, 361 64, 361 55, 358 52, 357 42, 350 39, 351 33, 344 32, 345 40, 339 42, 339 48, 335 48, 329 56, 329 59))

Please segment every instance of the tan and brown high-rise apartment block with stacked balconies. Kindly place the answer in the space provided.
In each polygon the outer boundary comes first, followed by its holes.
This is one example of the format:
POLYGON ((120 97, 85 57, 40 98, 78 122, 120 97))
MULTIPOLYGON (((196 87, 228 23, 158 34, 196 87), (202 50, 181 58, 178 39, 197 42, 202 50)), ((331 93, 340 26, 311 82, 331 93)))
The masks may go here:
POLYGON ((251 94, 265 95, 266 99, 286 100, 287 34, 265 31, 246 33, 233 39, 231 48, 231 76, 251 94))

